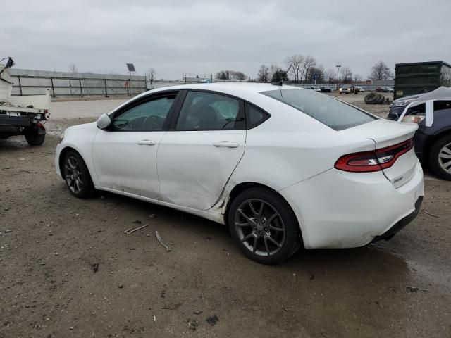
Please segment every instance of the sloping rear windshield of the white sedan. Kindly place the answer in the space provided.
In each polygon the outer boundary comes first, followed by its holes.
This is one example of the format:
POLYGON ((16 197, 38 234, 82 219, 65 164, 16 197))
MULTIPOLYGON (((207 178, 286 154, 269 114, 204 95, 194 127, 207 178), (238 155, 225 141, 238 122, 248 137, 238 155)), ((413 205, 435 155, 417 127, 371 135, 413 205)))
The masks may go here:
POLYGON ((376 120, 364 111, 307 89, 278 89, 261 94, 288 104, 334 130, 344 130, 376 120))

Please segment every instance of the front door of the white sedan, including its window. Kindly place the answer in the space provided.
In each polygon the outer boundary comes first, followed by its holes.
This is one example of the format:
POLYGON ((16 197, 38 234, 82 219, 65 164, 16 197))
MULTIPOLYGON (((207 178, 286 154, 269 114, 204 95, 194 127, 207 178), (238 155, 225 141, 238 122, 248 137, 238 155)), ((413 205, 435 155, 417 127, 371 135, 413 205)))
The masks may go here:
POLYGON ((101 187, 161 199, 156 154, 175 107, 177 92, 156 94, 114 114, 92 144, 101 187))

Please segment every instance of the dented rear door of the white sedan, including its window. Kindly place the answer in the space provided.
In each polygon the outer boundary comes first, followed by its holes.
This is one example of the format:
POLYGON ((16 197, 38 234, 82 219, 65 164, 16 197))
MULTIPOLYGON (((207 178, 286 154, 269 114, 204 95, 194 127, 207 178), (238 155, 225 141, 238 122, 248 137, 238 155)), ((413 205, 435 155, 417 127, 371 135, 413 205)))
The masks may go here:
POLYGON ((197 210, 214 206, 245 151, 239 99, 188 91, 161 140, 158 173, 163 201, 197 210))

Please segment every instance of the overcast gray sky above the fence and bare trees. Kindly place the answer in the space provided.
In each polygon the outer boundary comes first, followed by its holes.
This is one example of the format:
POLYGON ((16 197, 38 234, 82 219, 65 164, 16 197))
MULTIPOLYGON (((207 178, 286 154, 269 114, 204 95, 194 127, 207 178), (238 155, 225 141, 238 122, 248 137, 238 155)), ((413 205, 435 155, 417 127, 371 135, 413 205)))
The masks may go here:
POLYGON ((379 60, 451 62, 450 0, 3 1, 1 58, 16 68, 157 78, 284 65, 311 55, 366 77, 379 60))

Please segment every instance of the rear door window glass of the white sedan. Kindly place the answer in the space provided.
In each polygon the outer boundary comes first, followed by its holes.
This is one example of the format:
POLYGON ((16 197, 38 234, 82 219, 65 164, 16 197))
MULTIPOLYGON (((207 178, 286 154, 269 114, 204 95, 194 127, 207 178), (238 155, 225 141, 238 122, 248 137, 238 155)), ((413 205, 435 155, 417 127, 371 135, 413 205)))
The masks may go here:
POLYGON ((188 92, 177 130, 233 130, 242 125, 240 101, 208 92, 188 92))

